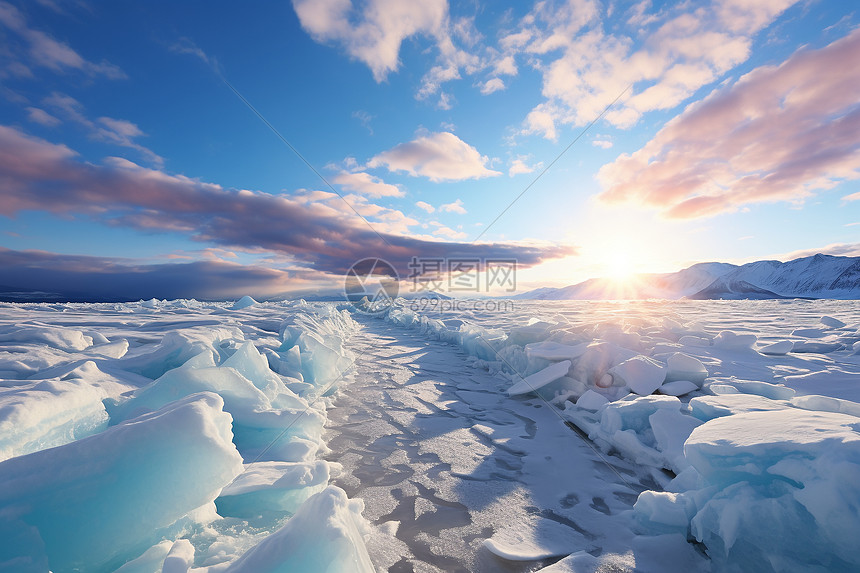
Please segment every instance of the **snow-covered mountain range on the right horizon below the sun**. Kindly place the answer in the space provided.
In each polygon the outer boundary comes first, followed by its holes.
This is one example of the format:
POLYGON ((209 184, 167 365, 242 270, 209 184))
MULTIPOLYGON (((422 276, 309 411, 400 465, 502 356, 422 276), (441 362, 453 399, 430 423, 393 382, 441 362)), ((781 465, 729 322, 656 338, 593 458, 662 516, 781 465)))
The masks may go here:
POLYGON ((600 299, 860 299, 860 257, 814 255, 788 262, 745 265, 699 263, 675 273, 641 274, 626 281, 589 279, 562 288, 539 288, 523 300, 600 299))

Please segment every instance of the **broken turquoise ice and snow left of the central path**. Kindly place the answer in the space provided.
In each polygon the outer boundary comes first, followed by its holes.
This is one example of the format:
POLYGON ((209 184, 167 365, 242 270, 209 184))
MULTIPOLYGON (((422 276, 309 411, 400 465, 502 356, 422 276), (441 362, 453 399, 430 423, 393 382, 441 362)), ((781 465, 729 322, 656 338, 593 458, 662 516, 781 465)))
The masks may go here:
POLYGON ((325 489, 317 397, 349 381, 357 323, 228 308, 0 305, 0 570, 220 572, 325 489))

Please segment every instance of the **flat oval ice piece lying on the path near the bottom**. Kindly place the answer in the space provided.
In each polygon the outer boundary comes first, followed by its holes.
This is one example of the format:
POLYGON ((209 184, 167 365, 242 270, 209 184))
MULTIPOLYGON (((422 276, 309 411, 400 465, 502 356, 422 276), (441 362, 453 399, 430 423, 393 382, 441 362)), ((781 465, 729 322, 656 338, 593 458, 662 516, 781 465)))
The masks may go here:
POLYGON ((580 532, 545 518, 537 518, 535 523, 518 523, 484 540, 484 547, 490 553, 509 561, 538 561, 570 555, 590 545, 580 532))

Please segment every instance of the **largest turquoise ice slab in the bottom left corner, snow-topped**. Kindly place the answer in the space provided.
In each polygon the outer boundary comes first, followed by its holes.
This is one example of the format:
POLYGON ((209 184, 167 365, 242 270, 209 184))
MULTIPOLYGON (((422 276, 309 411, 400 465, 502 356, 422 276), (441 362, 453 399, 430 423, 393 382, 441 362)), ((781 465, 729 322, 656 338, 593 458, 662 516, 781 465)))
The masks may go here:
MULTIPOLYGON (((0 463, 0 564, 112 570, 211 504, 242 472, 230 415, 197 394, 100 434, 0 463)), ((0 565, 2 567, 2 565, 0 565)))

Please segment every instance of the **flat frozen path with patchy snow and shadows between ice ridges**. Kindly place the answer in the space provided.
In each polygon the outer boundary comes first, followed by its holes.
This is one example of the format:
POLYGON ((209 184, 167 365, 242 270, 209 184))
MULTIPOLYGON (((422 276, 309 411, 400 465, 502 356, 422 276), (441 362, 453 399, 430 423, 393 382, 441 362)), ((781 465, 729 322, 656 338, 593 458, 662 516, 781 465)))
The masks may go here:
POLYGON ((326 459, 343 464, 333 483, 379 526, 369 540, 378 569, 535 571, 557 560, 501 559, 483 545, 491 536, 561 537, 563 554, 629 550, 619 514, 653 482, 609 458, 631 489, 539 398, 509 398, 504 380, 456 348, 355 318, 355 380, 329 411, 326 459))

